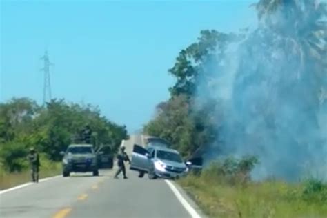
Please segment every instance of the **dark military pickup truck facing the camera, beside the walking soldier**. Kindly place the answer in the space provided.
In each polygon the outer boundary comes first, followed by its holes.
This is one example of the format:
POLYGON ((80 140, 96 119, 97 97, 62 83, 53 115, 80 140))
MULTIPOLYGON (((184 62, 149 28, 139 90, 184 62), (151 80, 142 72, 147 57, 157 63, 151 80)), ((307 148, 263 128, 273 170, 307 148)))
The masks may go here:
POLYGON ((70 172, 92 172, 99 175, 97 155, 90 144, 72 144, 63 155, 63 177, 69 177, 70 172))

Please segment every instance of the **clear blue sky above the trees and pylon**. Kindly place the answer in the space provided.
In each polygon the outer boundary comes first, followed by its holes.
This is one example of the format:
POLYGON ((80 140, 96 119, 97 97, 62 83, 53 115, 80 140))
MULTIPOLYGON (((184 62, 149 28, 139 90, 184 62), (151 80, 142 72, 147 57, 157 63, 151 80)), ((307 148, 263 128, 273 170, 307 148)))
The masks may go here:
POLYGON ((39 57, 48 49, 52 97, 97 105, 130 132, 168 99, 168 68, 201 30, 230 32, 256 20, 255 0, 0 1, 0 101, 42 102, 39 57))

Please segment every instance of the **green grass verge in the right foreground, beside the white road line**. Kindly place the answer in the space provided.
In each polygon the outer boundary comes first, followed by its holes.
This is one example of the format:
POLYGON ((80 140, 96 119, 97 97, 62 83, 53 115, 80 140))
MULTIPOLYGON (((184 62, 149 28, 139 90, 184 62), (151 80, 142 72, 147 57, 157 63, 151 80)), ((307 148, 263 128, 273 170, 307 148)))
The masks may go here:
POLYGON ((210 175, 190 175, 179 184, 208 217, 327 217, 326 184, 324 189, 282 181, 230 185, 210 175))

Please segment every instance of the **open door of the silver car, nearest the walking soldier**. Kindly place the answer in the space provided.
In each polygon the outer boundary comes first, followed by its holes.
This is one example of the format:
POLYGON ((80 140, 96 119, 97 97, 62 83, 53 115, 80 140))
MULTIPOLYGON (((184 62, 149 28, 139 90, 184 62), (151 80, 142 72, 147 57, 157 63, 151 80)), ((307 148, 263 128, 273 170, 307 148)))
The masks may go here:
POLYGON ((137 170, 141 172, 148 172, 151 159, 149 152, 142 146, 134 145, 132 152, 132 159, 130 161, 130 170, 137 170))

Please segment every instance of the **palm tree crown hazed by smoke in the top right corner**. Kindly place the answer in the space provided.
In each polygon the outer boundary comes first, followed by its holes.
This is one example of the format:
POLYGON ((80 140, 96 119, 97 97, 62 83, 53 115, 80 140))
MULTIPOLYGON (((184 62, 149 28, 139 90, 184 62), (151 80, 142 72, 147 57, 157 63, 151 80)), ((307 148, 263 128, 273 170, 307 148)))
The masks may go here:
POLYGON ((300 71, 310 67, 320 78, 326 77, 326 3, 317 0, 260 0, 255 7, 260 25, 273 30, 286 46, 297 50, 300 71), (304 60, 313 65, 304 66, 304 60))

